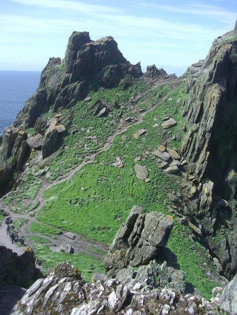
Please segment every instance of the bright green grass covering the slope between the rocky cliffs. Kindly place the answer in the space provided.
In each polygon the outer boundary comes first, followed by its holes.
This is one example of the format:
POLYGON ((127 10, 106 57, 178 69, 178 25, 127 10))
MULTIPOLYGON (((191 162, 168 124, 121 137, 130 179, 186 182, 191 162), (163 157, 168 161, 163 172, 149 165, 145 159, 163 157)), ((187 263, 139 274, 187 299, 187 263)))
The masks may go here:
MULTIPOLYGON (((106 118, 95 117, 92 114, 92 104, 96 99, 100 98, 110 103, 116 99, 118 104, 123 107, 124 117, 134 116, 135 106, 137 109, 152 108, 152 110, 143 116, 140 124, 131 125, 127 131, 118 134, 108 150, 97 154, 94 162, 80 169, 71 180, 46 190, 44 192, 45 204, 39 210, 36 219, 39 222, 84 234, 94 240, 110 244, 118 227, 126 221, 135 204, 143 206, 147 212, 168 213, 167 205, 171 202, 167 193, 177 191, 181 177, 168 176, 161 172, 157 168, 156 160, 152 159, 152 151, 163 144, 167 137, 171 137, 173 134, 183 135, 181 104, 187 95, 184 94, 184 85, 171 91, 171 87, 168 85, 150 89, 149 84, 138 81, 136 88, 130 87, 127 91, 119 88, 98 90, 90 92, 90 96, 91 102, 78 102, 77 106, 63 111, 65 117, 71 119, 69 126, 72 130, 76 129, 76 132, 69 133, 65 137, 64 144, 68 148, 61 150, 60 154, 57 154, 47 165, 51 180, 55 180, 58 174, 67 174, 71 168, 85 160, 86 154, 98 151, 108 136, 113 134, 122 109, 113 109, 106 118), (130 99, 137 96, 140 99, 135 105, 130 102, 130 99), (162 127, 159 122, 164 114, 177 120, 177 125, 171 129, 171 134, 168 134, 168 131, 165 135, 161 133, 162 127), (156 122, 158 125, 154 126, 156 122), (136 139, 134 134, 142 128, 147 132, 136 139), (96 141, 86 140, 86 135, 96 136, 96 141), (147 151, 149 152, 148 157, 144 158, 143 153, 147 151), (122 169, 111 165, 117 155, 124 162, 122 169), (136 156, 141 157, 141 161, 138 163, 150 170, 150 183, 144 183, 136 177, 134 172, 136 156)), ((181 143, 171 140, 169 144, 173 147, 180 147, 181 143)), ((37 171, 36 169, 35 174, 37 171)), ((32 181, 31 186, 27 189, 27 198, 32 200, 29 202, 28 209, 31 211, 39 181, 34 178, 33 174, 26 176, 32 181)), ((20 202, 22 195, 19 195, 18 198, 20 202)), ((32 229, 34 228, 32 227, 32 229)), ((177 263, 186 272, 187 282, 195 285, 204 296, 210 297, 211 289, 216 286, 216 283, 207 278, 203 269, 207 262, 213 272, 214 267, 211 265, 206 251, 198 243, 193 243, 188 234, 188 227, 180 226, 175 222, 167 247, 176 255, 177 263)), ((42 244, 35 244, 34 250, 45 267, 53 266, 62 260, 72 261, 82 271, 86 280, 90 275, 88 270, 102 271, 102 262, 97 262, 86 255, 83 258, 79 254, 52 253, 42 244)))

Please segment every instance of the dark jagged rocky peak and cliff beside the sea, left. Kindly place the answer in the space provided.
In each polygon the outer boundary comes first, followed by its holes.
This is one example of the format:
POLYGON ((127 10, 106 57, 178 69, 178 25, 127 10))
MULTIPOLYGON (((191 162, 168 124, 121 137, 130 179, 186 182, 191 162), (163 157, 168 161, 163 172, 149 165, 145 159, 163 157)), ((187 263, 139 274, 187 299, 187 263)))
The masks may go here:
POLYGON ((92 41, 88 32, 74 32, 64 60, 49 59, 41 73, 37 92, 26 102, 14 126, 4 131, 0 149, 0 194, 13 186, 11 177, 15 171, 24 169, 35 148, 42 149, 43 159, 58 148, 66 130, 64 117, 57 115, 47 120, 42 116, 44 113, 75 106, 88 94, 92 81, 111 88, 125 76, 141 75, 140 64, 132 65, 127 61, 111 36, 92 41), (26 141, 27 134, 22 130, 31 127, 40 134, 38 141, 26 141))

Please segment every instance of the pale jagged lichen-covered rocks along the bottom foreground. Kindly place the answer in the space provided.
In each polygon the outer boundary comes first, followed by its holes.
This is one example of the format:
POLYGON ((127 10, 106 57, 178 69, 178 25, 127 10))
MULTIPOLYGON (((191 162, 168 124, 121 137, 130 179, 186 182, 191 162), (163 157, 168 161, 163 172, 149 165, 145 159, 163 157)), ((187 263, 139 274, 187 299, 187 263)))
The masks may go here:
MULTIPOLYGON (((166 263, 158 265, 156 262, 151 262, 148 266, 139 268, 135 278, 127 277, 120 281, 102 274, 94 274, 94 282, 85 283, 76 268, 70 263, 61 263, 51 268, 45 279, 38 279, 27 290, 11 314, 217 315, 221 313, 223 308, 219 297, 208 302, 198 295, 182 294, 176 288, 172 288, 170 282, 163 282, 165 274, 167 277, 175 274, 172 271, 174 270, 167 269, 166 263), (164 287, 159 284, 164 284, 164 287)), ((184 273, 180 270, 179 272, 175 276, 180 276, 182 282, 184 273)), ((230 283, 227 290, 231 307, 227 310, 226 306, 224 309, 227 315, 235 315, 236 306, 232 303, 234 285, 230 283)))

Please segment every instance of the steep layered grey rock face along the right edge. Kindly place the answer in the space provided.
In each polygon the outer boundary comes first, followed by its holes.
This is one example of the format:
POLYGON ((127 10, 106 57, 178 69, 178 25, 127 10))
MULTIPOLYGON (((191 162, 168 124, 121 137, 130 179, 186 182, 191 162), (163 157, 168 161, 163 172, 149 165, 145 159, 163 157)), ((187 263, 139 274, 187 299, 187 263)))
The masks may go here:
POLYGON ((184 77, 188 98, 183 117, 188 128, 181 152, 188 162, 187 177, 197 192, 187 207, 192 216, 202 220, 207 244, 219 258, 219 271, 230 279, 237 266, 236 25, 215 39, 206 59, 189 67, 184 77), (233 204, 234 213, 228 202, 233 204), (214 244, 211 236, 217 220, 226 238, 214 244))

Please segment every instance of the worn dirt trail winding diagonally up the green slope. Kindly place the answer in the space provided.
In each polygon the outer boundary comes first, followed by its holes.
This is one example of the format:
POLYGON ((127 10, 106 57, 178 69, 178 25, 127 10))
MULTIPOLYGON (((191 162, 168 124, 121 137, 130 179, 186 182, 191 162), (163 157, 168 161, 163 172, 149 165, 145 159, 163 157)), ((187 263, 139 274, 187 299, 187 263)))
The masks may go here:
MULTIPOLYGON (((133 124, 127 124, 127 123, 125 123, 125 120, 121 119, 121 121, 117 125, 117 128, 116 128, 114 134, 112 136, 108 137, 108 139, 104 143, 103 147, 100 148, 95 153, 92 153, 90 155, 86 155, 85 161, 83 161, 76 168, 72 169, 69 173, 64 175, 62 179, 58 180, 58 178, 57 178, 52 183, 49 183, 49 182, 43 180, 41 183, 41 187, 40 187, 40 189, 39 189, 39 191, 35 197, 35 203, 37 203, 37 202, 39 203, 38 207, 34 209, 35 213, 37 213, 37 211, 44 205, 43 192, 46 189, 48 189, 54 185, 60 184, 62 182, 65 182, 67 180, 70 180, 75 175, 75 173, 77 173, 82 167, 84 167, 87 164, 93 163, 94 157, 97 154, 110 148, 110 146, 113 144, 113 138, 116 135, 125 132, 132 125, 139 124, 142 121, 141 117, 144 114, 145 113, 142 113, 139 117, 137 117, 137 121, 134 122, 133 124)), ((56 154, 56 152, 54 154, 56 154)), ((52 157, 52 155, 50 156, 50 158, 52 157)), ((37 222, 37 220, 35 219, 35 216, 30 217, 28 214, 15 213, 15 212, 11 211, 9 209, 8 205, 5 205, 1 199, 0 199, 0 207, 9 213, 9 217, 13 220, 13 225, 14 225, 14 220, 16 220, 16 219, 25 218, 26 220, 28 220, 27 223, 24 223, 23 227, 20 227, 18 229, 19 236, 21 238, 23 237, 23 239, 25 240, 24 246, 20 246, 20 243, 17 243, 19 246, 16 243, 12 244, 12 241, 11 241, 9 235, 7 235, 6 224, 5 224, 4 220, 0 226, 0 246, 5 246, 5 247, 11 249, 13 252, 17 253, 18 255, 22 255, 24 253, 25 246, 30 246, 32 243, 29 240, 30 236, 39 236, 39 237, 42 236, 40 234, 31 233, 29 231, 30 230, 30 224, 32 222, 37 222)), ((43 224, 43 223, 41 223, 41 224, 43 224)), ((45 225, 47 225, 47 224, 45 224, 45 225)), ((48 226, 50 226, 50 225, 48 225, 48 226)), ((97 248, 103 252, 108 251, 108 246, 106 244, 96 242, 95 240, 91 240, 90 238, 85 237, 85 235, 79 235, 79 234, 73 233, 76 236, 76 239, 75 240, 69 240, 64 235, 67 231, 63 231, 61 229, 58 229, 58 230, 62 233, 59 235, 56 235, 55 239, 44 237, 45 239, 48 239, 48 241, 49 241, 48 246, 51 248, 60 247, 61 245, 65 245, 65 244, 70 243, 73 246, 75 253, 76 252, 83 252, 85 254, 90 254, 92 256, 96 256, 97 259, 101 259, 101 260, 103 260, 104 255, 93 253, 93 248, 97 248)))

